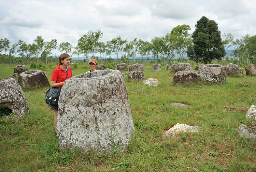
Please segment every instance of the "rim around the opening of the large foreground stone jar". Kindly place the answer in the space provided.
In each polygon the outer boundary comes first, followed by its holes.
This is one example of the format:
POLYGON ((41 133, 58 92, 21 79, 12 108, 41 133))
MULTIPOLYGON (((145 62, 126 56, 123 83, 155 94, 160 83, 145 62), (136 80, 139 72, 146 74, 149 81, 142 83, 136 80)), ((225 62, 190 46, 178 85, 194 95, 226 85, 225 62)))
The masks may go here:
POLYGON ((73 76, 73 77, 71 77, 71 78, 69 78, 69 79, 67 79, 67 80, 94 80, 94 79, 100 79, 100 78, 106 78, 106 77, 109 77, 109 76, 112 76, 112 75, 115 75, 115 74, 117 74, 117 73, 119 73, 120 75, 122 75, 121 74, 121 72, 120 71, 118 71, 118 70, 112 70, 112 69, 109 69, 109 70, 102 70, 102 71, 95 71, 95 72, 92 72, 92 73, 84 73, 84 74, 80 74, 80 75, 76 75, 76 76, 73 76), (95 73, 103 73, 103 72, 105 72, 106 74, 105 75, 100 75, 100 76, 97 76, 97 77, 85 77, 85 78, 79 78, 80 76, 86 76, 86 75, 94 75, 95 73), (94 73, 94 74, 93 74, 94 73))

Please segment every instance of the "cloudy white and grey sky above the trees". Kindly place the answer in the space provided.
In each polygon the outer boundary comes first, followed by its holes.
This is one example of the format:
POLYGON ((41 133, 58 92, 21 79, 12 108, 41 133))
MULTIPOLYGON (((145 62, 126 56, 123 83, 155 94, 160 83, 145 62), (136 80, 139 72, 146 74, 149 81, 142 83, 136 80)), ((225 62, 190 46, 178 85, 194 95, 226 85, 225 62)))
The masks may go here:
POLYGON ((177 25, 191 33, 202 16, 215 20, 221 33, 235 38, 256 34, 255 0, 0 0, 0 38, 31 44, 41 35, 76 46, 88 31, 103 32, 101 41, 121 36, 150 41, 177 25))

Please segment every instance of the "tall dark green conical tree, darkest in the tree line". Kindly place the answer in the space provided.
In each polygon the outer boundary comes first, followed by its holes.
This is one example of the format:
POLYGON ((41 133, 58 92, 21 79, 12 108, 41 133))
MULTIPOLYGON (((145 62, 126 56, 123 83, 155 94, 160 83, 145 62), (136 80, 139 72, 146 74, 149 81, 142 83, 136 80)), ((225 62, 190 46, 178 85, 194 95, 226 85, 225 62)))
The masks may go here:
POLYGON ((192 34, 193 44, 187 48, 187 56, 190 60, 203 64, 208 64, 214 59, 221 60, 226 52, 218 24, 202 16, 195 27, 196 31, 192 34))

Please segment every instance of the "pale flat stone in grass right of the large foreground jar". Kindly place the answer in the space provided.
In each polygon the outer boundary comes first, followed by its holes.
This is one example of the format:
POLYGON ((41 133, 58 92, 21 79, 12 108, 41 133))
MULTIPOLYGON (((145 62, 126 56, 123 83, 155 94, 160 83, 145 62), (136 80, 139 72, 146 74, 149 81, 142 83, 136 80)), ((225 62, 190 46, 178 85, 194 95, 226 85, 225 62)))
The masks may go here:
POLYGON ((171 127, 168 131, 163 134, 164 138, 175 138, 179 137, 179 134, 181 132, 198 132, 201 128, 199 126, 190 126, 187 124, 175 124, 173 127, 171 127))

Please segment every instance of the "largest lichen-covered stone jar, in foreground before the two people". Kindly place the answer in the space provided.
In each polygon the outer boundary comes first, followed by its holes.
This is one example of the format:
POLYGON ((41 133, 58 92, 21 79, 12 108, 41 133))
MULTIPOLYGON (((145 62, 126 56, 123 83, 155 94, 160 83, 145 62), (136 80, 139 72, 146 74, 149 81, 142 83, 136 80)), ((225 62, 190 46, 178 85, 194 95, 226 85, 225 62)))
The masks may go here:
POLYGON ((103 70, 67 79, 58 105, 60 148, 97 154, 125 148, 134 131, 129 104, 120 71, 103 70))

